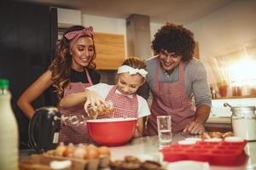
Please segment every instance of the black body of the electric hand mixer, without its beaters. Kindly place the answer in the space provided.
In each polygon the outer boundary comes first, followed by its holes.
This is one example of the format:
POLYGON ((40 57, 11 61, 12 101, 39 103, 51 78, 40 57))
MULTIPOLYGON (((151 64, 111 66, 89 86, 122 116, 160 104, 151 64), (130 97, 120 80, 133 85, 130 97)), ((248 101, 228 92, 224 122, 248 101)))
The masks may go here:
POLYGON ((28 127, 29 145, 32 149, 40 153, 55 149, 59 140, 60 117, 61 113, 52 106, 40 108, 35 112, 28 127))

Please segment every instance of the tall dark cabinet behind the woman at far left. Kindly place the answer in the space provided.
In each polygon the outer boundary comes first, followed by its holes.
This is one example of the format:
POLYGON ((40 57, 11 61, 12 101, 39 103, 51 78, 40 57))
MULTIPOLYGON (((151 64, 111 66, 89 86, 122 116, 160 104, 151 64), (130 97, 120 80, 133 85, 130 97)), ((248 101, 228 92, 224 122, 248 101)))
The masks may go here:
MULTIPOLYGON (((28 119, 16 105, 16 100, 46 71, 53 58, 57 9, 15 1, 3 1, 0 9, 0 78, 7 78, 10 82, 22 149, 26 148, 28 119)), ((51 89, 33 102, 35 108, 44 105, 55 105, 51 89)))

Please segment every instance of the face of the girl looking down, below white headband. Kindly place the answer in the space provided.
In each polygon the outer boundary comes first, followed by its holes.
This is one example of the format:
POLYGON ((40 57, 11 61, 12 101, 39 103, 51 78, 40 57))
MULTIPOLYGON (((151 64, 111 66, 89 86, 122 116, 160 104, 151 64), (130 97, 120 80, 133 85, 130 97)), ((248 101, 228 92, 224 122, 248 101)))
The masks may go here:
POLYGON ((119 74, 117 89, 124 95, 135 94, 137 88, 142 86, 143 82, 145 82, 145 78, 141 75, 130 75, 129 72, 124 72, 119 74))

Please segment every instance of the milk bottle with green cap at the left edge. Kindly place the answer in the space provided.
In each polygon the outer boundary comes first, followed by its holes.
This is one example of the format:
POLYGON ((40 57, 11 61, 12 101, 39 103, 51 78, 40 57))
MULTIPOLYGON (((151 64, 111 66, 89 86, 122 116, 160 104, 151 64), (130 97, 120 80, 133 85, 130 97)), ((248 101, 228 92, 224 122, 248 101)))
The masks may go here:
POLYGON ((9 81, 0 79, 0 169, 18 167, 18 127, 11 108, 9 81))

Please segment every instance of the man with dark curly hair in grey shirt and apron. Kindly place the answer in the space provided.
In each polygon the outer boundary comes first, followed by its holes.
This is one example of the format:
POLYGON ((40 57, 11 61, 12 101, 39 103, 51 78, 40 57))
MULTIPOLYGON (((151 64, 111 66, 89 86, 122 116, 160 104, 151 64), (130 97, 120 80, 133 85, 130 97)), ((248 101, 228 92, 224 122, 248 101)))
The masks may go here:
POLYGON ((211 110, 207 71, 200 60, 193 59, 193 33, 183 26, 166 23, 154 35, 156 56, 146 61, 147 82, 137 94, 148 99, 153 94, 146 134, 157 134, 156 116, 172 116, 172 132, 204 133, 204 123, 211 110), (195 98, 195 106, 192 105, 195 98))

